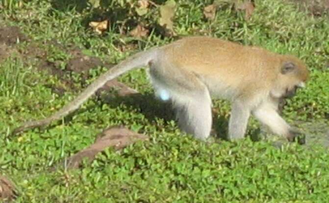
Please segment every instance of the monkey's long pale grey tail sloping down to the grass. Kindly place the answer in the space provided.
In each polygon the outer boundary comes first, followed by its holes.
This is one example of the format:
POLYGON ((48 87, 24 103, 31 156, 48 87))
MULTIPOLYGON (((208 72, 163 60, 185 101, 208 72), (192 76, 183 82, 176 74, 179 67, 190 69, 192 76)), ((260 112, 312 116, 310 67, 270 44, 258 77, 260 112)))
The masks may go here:
POLYGON ((122 61, 121 63, 117 64, 103 75, 99 76, 93 83, 91 83, 85 90, 83 90, 73 101, 66 104, 56 113, 52 114, 50 117, 36 120, 36 121, 29 121, 25 122, 22 126, 16 128, 12 133, 16 134, 18 132, 25 131, 26 129, 39 127, 50 124, 52 121, 58 120, 69 113, 73 112, 79 106, 85 102, 89 97, 91 97, 99 88, 101 88, 107 81, 114 79, 129 70, 134 68, 147 66, 149 62, 155 58, 156 49, 152 49, 149 51, 142 51, 136 53, 126 60, 122 61))

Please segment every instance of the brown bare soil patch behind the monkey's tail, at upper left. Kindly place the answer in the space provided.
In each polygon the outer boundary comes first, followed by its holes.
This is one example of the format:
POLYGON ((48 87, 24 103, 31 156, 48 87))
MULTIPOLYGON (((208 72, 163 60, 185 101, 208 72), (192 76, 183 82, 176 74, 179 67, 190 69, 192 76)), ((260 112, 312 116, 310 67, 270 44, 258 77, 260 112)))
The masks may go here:
MULTIPOLYGON (((37 43, 31 42, 25 49, 17 50, 16 44, 18 42, 31 41, 27 36, 25 36, 19 27, 17 26, 4 26, 0 28, 0 61, 8 58, 13 52, 19 53, 20 57, 24 58, 24 61, 37 61, 38 70, 44 71, 47 73, 57 76, 62 80, 66 87, 70 89, 75 89, 73 82, 64 77, 66 74, 71 72, 83 73, 82 83, 87 79, 88 71, 92 68, 103 66, 111 68, 114 64, 104 63, 100 58, 94 56, 87 56, 82 53, 78 48, 64 47, 56 42, 56 40, 49 41, 53 46, 59 47, 62 50, 65 50, 68 54, 72 55, 72 58, 67 61, 65 70, 59 68, 61 61, 49 61, 47 59, 47 51, 41 49, 37 43)), ((63 95, 66 91, 63 87, 50 87, 54 93, 58 95, 63 95)), ((125 84, 118 82, 116 79, 107 82, 101 91, 109 91, 112 89, 118 90, 119 95, 127 95, 137 93, 137 91, 127 87, 125 84)))

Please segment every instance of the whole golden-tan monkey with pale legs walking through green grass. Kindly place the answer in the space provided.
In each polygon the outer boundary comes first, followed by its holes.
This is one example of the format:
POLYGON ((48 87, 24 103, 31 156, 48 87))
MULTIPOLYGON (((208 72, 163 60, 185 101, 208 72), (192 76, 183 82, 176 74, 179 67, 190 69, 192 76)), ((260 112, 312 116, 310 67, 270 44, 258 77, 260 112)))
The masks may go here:
POLYGON ((205 140, 210 134, 210 96, 231 101, 229 140, 245 136, 251 114, 289 141, 298 135, 279 116, 278 102, 293 95, 297 87, 305 86, 309 72, 304 63, 294 56, 211 37, 187 37, 136 53, 101 75, 49 118, 26 122, 14 132, 47 125, 68 115, 107 81, 142 66, 150 67, 156 95, 172 101, 178 126, 196 138, 205 140))

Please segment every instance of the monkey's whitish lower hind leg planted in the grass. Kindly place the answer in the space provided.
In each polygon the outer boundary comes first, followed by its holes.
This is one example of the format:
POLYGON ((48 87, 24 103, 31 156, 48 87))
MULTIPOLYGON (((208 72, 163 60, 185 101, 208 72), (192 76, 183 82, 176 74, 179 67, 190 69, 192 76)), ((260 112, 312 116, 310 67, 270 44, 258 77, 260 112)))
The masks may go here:
POLYGON ((172 99, 179 128, 201 140, 208 138, 212 116, 211 98, 206 87, 203 92, 191 93, 191 97, 175 98, 174 96, 172 99))

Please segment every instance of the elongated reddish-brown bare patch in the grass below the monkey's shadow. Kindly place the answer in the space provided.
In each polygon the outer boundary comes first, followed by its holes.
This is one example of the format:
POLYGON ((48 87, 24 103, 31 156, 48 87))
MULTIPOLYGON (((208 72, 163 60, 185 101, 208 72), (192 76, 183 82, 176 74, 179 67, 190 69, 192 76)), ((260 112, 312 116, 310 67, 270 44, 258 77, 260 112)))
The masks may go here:
POLYGON ((105 129, 98 136, 94 144, 69 157, 67 159, 67 167, 69 169, 78 168, 84 158, 87 158, 87 160, 91 162, 94 160, 97 153, 102 152, 108 147, 114 147, 115 150, 120 150, 138 140, 148 139, 146 135, 133 132, 125 127, 111 127, 105 129))

